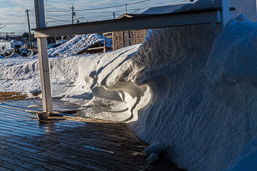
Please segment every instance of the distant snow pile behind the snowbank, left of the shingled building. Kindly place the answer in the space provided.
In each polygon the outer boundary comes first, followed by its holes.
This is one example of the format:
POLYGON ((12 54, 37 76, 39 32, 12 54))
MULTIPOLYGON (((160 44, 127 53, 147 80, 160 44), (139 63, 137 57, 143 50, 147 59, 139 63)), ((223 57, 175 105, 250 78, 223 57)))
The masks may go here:
MULTIPOLYGON (((57 48, 48 50, 49 56, 76 56, 76 53, 84 48, 94 45, 97 42, 104 44, 104 36, 100 34, 76 35, 70 41, 57 48)), ((112 46, 110 38, 106 38, 106 46, 112 46)))

